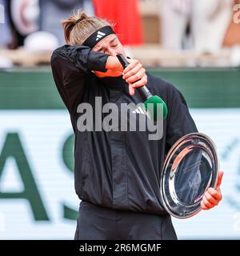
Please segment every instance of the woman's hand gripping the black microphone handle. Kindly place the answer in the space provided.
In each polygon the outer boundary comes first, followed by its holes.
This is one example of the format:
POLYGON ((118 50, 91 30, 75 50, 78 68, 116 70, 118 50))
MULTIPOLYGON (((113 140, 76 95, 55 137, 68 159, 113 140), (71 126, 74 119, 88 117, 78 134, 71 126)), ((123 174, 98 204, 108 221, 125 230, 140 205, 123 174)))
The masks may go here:
POLYGON ((129 93, 134 95, 135 88, 146 86, 147 76, 146 70, 137 59, 127 59, 130 65, 123 70, 122 78, 129 83, 129 93))

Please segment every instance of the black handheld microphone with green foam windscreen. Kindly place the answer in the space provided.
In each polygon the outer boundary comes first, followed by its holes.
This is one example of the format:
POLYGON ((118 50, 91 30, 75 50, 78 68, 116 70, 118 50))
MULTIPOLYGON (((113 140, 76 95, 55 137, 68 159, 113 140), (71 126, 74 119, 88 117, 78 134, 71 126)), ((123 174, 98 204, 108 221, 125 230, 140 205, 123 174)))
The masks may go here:
MULTIPOLYGON (((116 57, 118 58, 118 61, 122 64, 124 69, 130 64, 129 62, 127 62, 126 58, 122 54, 117 54, 116 57)), ((146 113, 151 119, 153 119, 154 121, 158 120, 158 103, 161 103, 163 119, 166 118, 167 106, 166 103, 162 100, 162 98, 160 98, 158 95, 153 96, 146 86, 136 87, 135 89, 138 90, 138 93, 141 95, 142 100, 144 101, 143 106, 145 107, 146 113), (149 103, 154 104, 154 107, 150 107, 150 110, 147 109, 147 104, 149 103)))

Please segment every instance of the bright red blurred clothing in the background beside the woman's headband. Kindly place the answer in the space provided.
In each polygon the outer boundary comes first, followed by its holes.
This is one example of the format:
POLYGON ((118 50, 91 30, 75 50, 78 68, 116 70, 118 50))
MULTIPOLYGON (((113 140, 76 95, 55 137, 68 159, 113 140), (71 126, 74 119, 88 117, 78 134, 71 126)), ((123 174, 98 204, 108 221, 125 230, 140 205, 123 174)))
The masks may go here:
POLYGON ((98 17, 115 22, 114 30, 123 45, 142 44, 142 23, 138 0, 93 0, 98 17))

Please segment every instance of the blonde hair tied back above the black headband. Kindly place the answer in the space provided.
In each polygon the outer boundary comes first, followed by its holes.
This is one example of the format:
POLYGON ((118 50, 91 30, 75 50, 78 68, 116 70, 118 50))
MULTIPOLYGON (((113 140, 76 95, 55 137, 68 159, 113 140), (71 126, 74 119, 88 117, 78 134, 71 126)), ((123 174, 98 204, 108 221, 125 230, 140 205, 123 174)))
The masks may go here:
POLYGON ((61 21, 66 43, 71 46, 82 45, 82 43, 103 26, 114 26, 103 18, 88 17, 82 10, 74 12, 70 18, 61 21))

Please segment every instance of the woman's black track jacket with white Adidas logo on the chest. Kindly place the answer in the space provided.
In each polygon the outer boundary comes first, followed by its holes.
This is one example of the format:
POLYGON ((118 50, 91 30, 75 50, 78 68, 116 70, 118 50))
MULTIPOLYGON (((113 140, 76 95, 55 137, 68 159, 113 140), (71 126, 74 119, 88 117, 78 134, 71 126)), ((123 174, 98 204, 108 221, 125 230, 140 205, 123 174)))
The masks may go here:
MULTIPOLYGON (((84 201, 118 210, 166 214, 160 197, 160 174, 167 152, 185 134, 197 132, 182 94, 169 82, 148 74, 147 87, 168 107, 160 140, 143 131, 82 131, 77 129, 78 104, 102 97, 102 105, 142 102, 138 91, 118 78, 98 78, 108 55, 86 46, 62 46, 51 57, 54 81, 69 110, 75 134, 74 184, 84 201)), ((94 109, 95 111, 95 109, 94 109)))

